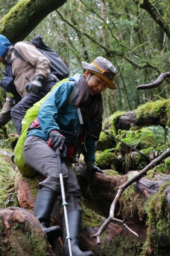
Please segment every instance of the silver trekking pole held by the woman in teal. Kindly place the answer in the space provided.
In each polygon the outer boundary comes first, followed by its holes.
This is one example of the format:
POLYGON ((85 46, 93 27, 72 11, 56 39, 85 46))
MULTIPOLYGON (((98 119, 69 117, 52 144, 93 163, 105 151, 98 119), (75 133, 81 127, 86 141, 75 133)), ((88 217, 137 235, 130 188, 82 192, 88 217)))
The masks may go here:
POLYGON ((72 237, 69 234, 69 222, 68 222, 68 217, 67 217, 67 208, 66 206, 68 205, 66 202, 66 196, 65 196, 65 191, 64 191, 64 183, 63 183, 63 172, 61 168, 61 152, 60 152, 60 147, 56 148, 55 154, 57 157, 57 163, 58 163, 58 173, 60 177, 60 185, 61 185, 61 195, 62 195, 62 207, 64 211, 64 217, 65 217, 65 222, 66 222, 66 239, 68 239, 68 244, 69 244, 69 256, 72 256, 72 247, 71 247, 71 240, 72 237))

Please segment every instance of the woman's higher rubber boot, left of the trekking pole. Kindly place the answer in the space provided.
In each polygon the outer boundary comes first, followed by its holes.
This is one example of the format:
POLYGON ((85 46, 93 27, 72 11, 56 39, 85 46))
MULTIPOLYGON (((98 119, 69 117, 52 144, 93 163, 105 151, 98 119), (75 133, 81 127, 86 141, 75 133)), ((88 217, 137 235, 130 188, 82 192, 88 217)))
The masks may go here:
POLYGON ((43 231, 49 242, 56 240, 62 235, 59 226, 49 227, 52 209, 55 205, 57 193, 54 190, 39 190, 35 201, 34 215, 40 221, 43 231))

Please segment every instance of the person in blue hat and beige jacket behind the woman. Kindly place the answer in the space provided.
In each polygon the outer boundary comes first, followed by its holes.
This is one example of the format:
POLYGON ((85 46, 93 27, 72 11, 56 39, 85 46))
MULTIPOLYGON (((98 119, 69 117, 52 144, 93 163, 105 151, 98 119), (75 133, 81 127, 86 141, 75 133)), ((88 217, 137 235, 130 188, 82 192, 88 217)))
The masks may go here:
POLYGON ((9 91, 10 95, 7 93, 6 102, 0 113, 0 127, 6 125, 12 118, 17 133, 20 135, 21 122, 27 109, 43 98, 59 79, 50 73, 49 59, 33 44, 20 41, 12 46, 5 36, 0 35, 0 62, 8 67, 9 58, 14 77, 6 73, 1 85, 6 87, 6 83, 9 83, 9 87, 12 88, 10 83, 13 80, 17 96, 15 97, 12 91, 9 91), (14 48, 19 58, 14 55, 14 48))

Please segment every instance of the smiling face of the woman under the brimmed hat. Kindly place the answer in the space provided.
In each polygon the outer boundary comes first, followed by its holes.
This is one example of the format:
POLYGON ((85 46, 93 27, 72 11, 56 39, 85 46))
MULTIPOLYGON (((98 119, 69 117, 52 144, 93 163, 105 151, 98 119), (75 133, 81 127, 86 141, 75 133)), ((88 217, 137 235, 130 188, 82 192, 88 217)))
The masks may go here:
POLYGON ((85 73, 87 85, 89 87, 90 96, 95 96, 96 94, 102 93, 107 88, 107 82, 101 79, 99 76, 92 74, 86 70, 85 73))

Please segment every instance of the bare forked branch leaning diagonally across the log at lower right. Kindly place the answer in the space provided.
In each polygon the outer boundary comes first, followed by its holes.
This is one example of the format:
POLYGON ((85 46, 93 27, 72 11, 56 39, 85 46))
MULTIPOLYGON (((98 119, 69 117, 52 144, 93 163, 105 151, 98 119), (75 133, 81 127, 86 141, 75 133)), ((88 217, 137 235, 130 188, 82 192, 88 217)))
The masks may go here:
POLYGON ((137 175, 133 176, 130 180, 125 182, 122 186, 118 187, 118 192, 117 192, 115 199, 113 200, 111 207, 110 207, 109 217, 107 218, 106 221, 104 221, 103 225, 100 227, 98 232, 92 236, 97 239, 97 244, 101 244, 101 241, 100 241, 101 234, 107 228, 109 223, 113 222, 113 221, 123 224, 124 227, 126 227, 131 233, 133 233, 135 236, 138 237, 138 234, 136 234, 133 230, 131 230, 129 227, 127 227, 127 225, 124 224, 124 221, 114 218, 115 206, 118 203, 122 193, 128 186, 133 184, 135 181, 139 180, 144 174, 147 173, 147 171, 152 169, 154 166, 158 165, 158 163, 160 163, 162 160, 164 160, 166 157, 169 157, 169 156, 170 156, 170 148, 168 148, 166 151, 164 151, 164 153, 162 153, 159 157, 155 158, 144 169, 142 169, 137 175))

